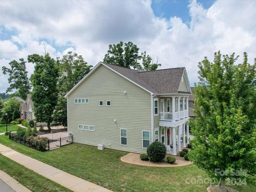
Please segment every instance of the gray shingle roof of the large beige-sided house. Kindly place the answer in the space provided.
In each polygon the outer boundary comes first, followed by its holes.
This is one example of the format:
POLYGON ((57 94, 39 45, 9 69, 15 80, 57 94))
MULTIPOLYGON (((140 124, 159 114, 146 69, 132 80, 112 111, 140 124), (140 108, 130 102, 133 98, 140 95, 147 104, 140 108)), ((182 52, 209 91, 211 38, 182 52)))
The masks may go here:
POLYGON ((137 71, 109 63, 104 64, 155 94, 178 93, 181 77, 185 70, 185 67, 180 67, 155 71, 137 71))

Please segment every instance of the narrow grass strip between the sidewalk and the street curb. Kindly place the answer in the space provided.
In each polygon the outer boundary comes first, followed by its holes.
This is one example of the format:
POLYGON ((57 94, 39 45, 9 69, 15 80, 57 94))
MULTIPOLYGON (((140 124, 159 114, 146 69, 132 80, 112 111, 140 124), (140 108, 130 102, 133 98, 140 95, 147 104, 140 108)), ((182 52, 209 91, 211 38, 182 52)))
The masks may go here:
POLYGON ((31 191, 70 191, 1 154, 0 169, 31 191))

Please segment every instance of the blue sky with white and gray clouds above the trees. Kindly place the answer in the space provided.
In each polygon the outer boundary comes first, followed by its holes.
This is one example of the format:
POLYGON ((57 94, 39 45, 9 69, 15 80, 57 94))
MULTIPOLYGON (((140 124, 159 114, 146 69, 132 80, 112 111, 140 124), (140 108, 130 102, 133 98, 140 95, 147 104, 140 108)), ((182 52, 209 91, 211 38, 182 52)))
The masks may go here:
MULTIPOLYGON (((83 55, 90 65, 103 60, 109 44, 131 41, 161 69, 186 67, 190 85, 198 62, 222 54, 256 57, 256 1, 5 1, 0 3, 0 93, 8 87, 2 66, 27 55, 83 55)), ((239 62, 241 62, 242 57, 239 62)), ((34 65, 27 63, 29 76, 34 65)))

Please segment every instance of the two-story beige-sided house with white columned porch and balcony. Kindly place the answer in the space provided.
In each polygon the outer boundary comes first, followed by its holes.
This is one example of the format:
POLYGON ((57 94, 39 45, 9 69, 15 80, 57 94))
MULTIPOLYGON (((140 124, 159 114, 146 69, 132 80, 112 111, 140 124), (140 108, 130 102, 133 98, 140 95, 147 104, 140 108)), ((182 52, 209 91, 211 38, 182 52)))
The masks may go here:
POLYGON ((145 153, 161 141, 175 155, 189 143, 186 69, 137 71, 99 62, 66 95, 73 141, 145 153))

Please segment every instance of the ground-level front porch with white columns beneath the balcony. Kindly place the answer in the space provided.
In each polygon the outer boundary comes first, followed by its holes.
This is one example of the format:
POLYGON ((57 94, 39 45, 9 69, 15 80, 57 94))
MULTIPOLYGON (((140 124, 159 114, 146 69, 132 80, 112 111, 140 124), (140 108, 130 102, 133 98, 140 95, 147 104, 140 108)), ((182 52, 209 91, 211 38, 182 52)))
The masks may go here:
POLYGON ((161 126, 155 130, 155 135, 155 141, 160 141, 166 146, 167 154, 177 155, 189 144, 189 125, 182 123, 175 127, 161 126))

